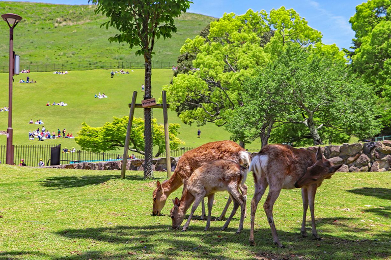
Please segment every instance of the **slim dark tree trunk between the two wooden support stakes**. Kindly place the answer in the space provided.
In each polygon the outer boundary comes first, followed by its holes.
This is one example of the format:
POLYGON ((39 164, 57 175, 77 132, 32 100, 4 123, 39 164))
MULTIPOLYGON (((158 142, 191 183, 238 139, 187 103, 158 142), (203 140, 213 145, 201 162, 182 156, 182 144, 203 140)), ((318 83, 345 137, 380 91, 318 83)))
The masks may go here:
MULTIPOLYGON (((152 98, 152 59, 151 54, 144 54, 145 58, 145 93, 144 99, 152 98)), ((153 178, 153 165, 152 165, 152 118, 151 118, 151 109, 144 108, 144 138, 145 138, 145 160, 144 160, 144 179, 153 178)))

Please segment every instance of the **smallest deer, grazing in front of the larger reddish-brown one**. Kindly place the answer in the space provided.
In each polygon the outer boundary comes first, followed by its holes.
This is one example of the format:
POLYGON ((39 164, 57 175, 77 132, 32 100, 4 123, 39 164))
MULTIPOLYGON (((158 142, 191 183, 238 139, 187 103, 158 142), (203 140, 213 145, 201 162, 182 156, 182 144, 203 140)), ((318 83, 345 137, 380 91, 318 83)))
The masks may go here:
POLYGON ((182 229, 182 231, 186 231, 194 211, 197 209, 198 205, 200 205, 201 201, 205 197, 208 197, 208 221, 205 227, 205 231, 207 231, 211 220, 214 193, 227 190, 234 202, 234 208, 221 230, 225 230, 228 227, 232 217, 235 215, 236 210, 240 205, 240 224, 239 229, 236 232, 240 233, 243 229, 246 196, 242 196, 242 194, 240 194, 239 187, 240 184, 244 184, 246 177, 247 168, 244 168, 231 160, 211 161, 210 163, 204 164, 195 170, 187 180, 187 185, 183 190, 181 200, 178 198, 173 200, 174 207, 170 212, 173 220, 173 230, 179 229, 179 226, 185 218, 187 209, 190 207, 191 203, 194 202, 191 207, 189 218, 182 229))

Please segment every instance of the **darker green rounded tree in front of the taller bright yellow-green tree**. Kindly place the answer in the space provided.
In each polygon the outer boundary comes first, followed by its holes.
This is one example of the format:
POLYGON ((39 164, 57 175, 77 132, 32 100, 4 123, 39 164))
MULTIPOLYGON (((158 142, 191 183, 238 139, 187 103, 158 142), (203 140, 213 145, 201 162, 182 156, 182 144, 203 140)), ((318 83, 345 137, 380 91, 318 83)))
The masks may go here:
MULTIPOLYGON (((277 133, 287 137, 285 142, 311 138, 315 145, 323 144, 320 131, 323 137, 331 138, 341 133, 345 136, 340 138, 366 138, 378 133, 372 88, 351 76, 341 59, 343 54, 338 48, 334 52, 332 49, 288 44, 256 81, 250 81, 253 85, 247 89, 244 102, 252 106, 250 112, 256 109, 261 118, 253 118, 249 127, 262 130, 260 126, 268 122, 266 119, 274 120, 283 123, 277 133), (258 99, 262 93, 266 98, 258 99)), ((240 110, 243 111, 246 110, 240 110)), ((244 116, 252 118, 254 113, 244 116)))

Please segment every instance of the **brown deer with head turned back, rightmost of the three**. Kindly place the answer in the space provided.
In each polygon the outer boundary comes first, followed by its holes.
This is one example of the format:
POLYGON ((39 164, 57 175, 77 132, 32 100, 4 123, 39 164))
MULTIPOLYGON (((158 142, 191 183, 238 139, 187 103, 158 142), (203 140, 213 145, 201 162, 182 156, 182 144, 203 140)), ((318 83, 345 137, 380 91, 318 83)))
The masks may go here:
POLYGON ((273 219, 273 205, 280 195, 281 189, 301 188, 303 200, 303 222, 301 225, 301 235, 306 237, 305 216, 310 204, 312 235, 314 239, 320 240, 316 231, 314 204, 316 189, 322 184, 324 179, 331 178, 342 165, 333 166, 326 160, 320 147, 315 153, 296 149, 289 145, 268 145, 253 157, 249 167, 249 172, 253 171, 255 182, 254 198, 251 201, 251 228, 250 245, 254 242, 254 218, 257 206, 261 200, 267 186, 269 194, 263 208, 266 212, 267 220, 271 228, 274 244, 284 247, 278 240, 277 231, 273 219))

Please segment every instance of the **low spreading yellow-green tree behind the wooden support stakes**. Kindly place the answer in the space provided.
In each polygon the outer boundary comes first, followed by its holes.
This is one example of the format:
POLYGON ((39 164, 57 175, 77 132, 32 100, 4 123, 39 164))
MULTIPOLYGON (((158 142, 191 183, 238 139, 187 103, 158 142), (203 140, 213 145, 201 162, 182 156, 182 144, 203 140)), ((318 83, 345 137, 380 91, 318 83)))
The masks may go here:
MULTIPOLYGON (((83 122, 75 141, 81 149, 92 152, 106 152, 125 147, 128 120, 128 116, 114 117, 113 122, 106 122, 100 127, 91 127, 83 122)), ((153 145, 158 146, 158 152, 155 155, 157 157, 165 149, 164 126, 158 125, 156 119, 152 120, 152 124, 153 145)), ((145 154, 144 125, 142 118, 133 118, 132 131, 130 132, 130 151, 145 154)), ((170 149, 177 149, 179 145, 183 144, 177 138, 179 127, 179 124, 169 124, 170 149)))

